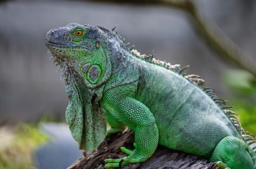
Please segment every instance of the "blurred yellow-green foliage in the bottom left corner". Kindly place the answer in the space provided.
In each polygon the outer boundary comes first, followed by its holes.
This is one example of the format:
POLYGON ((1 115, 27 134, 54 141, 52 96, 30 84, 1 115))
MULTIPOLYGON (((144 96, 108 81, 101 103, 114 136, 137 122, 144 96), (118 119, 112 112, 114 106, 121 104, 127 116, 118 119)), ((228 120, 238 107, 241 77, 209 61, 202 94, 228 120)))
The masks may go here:
POLYGON ((0 168, 32 168, 33 152, 49 136, 33 124, 0 128, 0 168))

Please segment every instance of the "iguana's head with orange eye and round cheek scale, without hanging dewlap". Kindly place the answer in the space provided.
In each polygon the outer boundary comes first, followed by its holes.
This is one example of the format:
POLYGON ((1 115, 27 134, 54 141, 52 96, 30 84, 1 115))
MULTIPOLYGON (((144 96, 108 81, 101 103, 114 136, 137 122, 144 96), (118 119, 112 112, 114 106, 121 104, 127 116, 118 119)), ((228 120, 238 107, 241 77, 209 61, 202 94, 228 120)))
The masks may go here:
POLYGON ((46 47, 53 58, 58 64, 67 62, 85 80, 88 88, 96 88, 106 82, 111 71, 102 47, 106 38, 101 32, 97 26, 68 24, 51 29, 46 35, 46 47))

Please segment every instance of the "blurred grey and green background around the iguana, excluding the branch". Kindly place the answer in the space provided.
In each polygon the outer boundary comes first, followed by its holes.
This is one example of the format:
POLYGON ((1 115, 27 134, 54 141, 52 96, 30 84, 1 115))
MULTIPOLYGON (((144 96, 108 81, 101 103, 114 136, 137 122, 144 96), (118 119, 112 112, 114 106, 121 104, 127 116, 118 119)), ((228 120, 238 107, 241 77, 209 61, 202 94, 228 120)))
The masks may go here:
POLYGON ((159 60, 190 65, 186 74, 201 75, 256 134, 256 2, 192 1, 210 38, 186 8, 141 2, 0 1, 0 168, 66 168, 81 155, 45 47, 47 31, 68 23, 118 24, 141 54, 154 49, 159 60))

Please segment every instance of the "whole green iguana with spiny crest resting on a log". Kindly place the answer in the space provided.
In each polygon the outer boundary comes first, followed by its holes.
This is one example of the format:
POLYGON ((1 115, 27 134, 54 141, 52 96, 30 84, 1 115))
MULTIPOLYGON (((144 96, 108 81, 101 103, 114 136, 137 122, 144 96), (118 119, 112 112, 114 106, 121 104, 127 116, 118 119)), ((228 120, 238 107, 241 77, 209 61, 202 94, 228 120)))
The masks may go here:
POLYGON ((198 75, 140 55, 114 28, 68 24, 49 30, 46 46, 65 79, 66 120, 79 149, 94 150, 106 135, 135 132, 128 157, 105 168, 144 162, 157 145, 202 155, 215 167, 256 168, 256 139, 198 75), (106 123, 111 129, 106 132, 106 123))

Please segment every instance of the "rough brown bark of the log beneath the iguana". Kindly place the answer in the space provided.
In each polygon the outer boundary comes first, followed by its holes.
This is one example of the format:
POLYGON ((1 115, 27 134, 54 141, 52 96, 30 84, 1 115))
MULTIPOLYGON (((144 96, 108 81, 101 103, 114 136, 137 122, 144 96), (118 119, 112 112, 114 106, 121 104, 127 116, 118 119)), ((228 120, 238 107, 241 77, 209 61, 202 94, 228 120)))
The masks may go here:
MULTIPOLYGON (((133 143, 134 132, 131 130, 125 130, 122 134, 107 137, 105 142, 99 145, 96 150, 84 153, 68 169, 104 168, 102 163, 105 159, 125 157, 126 154, 121 152, 120 147, 125 146, 125 148, 132 150, 134 149, 133 143)), ((146 162, 129 164, 122 168, 207 169, 213 166, 213 163, 200 156, 171 150, 159 145, 153 156, 147 159, 146 162)))

